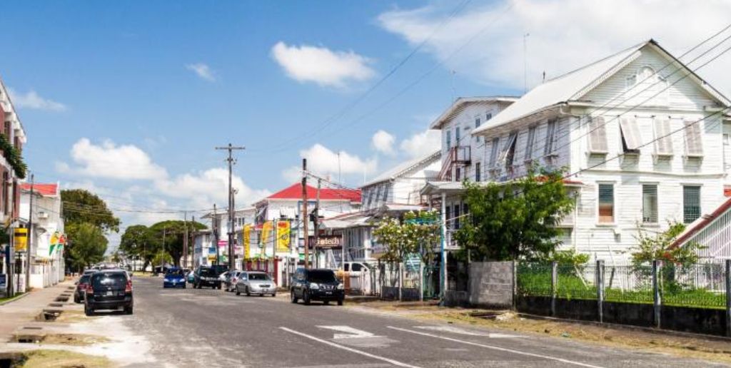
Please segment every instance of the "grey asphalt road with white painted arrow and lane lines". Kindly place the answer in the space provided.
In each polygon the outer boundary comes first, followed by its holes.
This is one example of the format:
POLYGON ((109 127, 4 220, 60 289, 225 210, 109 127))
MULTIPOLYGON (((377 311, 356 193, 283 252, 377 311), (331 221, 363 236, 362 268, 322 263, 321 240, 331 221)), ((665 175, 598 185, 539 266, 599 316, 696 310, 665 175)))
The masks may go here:
POLYGON ((709 367, 571 340, 423 323, 337 305, 291 304, 135 279, 124 323, 167 367, 709 367))

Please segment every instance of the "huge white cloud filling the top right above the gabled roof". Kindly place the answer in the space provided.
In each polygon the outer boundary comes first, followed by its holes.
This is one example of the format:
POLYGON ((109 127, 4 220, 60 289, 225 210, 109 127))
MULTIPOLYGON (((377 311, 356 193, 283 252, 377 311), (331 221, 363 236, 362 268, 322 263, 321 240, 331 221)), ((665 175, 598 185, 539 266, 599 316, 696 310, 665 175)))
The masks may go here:
MULTIPOLYGON (((450 9, 444 4, 451 3, 395 9, 378 20, 383 28, 415 45, 448 17, 450 9)), ((446 68, 482 83, 522 89, 523 34, 530 34, 530 88, 540 83, 544 71, 547 77, 556 77, 650 38, 681 55, 725 26, 728 14, 729 1, 705 1, 702 6, 689 0, 499 1, 464 10, 437 31, 423 50, 444 61, 446 68), (505 10, 508 4, 512 7, 505 10)), ((731 54, 724 55, 700 74, 716 87, 731 90, 731 74, 725 70, 730 63, 731 54)))

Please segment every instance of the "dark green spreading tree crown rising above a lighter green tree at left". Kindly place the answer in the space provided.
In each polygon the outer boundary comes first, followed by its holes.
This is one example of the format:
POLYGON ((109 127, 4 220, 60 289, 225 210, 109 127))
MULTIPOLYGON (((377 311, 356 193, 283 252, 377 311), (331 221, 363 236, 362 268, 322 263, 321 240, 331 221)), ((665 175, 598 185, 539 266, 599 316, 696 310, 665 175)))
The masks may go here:
POLYGON ((61 202, 66 223, 91 223, 105 233, 119 231, 119 219, 96 194, 85 189, 68 189, 61 191, 61 202))

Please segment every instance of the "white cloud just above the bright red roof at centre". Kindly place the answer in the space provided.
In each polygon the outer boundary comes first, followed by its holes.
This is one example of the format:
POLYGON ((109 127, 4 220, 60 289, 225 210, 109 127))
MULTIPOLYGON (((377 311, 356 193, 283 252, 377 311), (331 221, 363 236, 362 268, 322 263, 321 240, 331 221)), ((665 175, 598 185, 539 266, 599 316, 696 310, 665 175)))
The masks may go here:
MULTIPOLYGON (((318 175, 330 175, 338 177, 342 175, 368 175, 376 171, 377 162, 374 158, 363 159, 347 153, 344 150, 338 152, 330 150, 324 145, 317 143, 306 150, 300 150, 300 157, 307 158, 307 169, 318 175)), ((290 182, 300 180, 302 173, 296 166, 284 169, 282 177, 290 182)))

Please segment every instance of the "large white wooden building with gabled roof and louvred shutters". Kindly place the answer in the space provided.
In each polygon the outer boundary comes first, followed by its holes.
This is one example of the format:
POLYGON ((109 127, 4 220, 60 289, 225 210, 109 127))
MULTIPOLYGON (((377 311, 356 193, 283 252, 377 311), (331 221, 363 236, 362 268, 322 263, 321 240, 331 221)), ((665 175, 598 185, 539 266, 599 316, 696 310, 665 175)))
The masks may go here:
POLYGON ((564 248, 624 261, 638 226, 692 223, 724 202, 730 104, 650 40, 526 93, 472 131, 485 142, 474 160, 498 182, 565 167, 578 186, 564 248))

